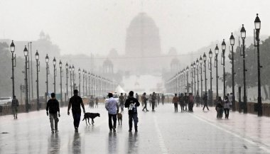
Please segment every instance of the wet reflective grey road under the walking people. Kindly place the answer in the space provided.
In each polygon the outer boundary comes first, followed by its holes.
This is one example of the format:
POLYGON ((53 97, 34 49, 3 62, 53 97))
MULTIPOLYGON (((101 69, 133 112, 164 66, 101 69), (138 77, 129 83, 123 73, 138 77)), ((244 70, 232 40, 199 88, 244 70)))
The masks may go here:
POLYGON ((138 133, 128 132, 126 110, 123 125, 109 132, 103 105, 86 109, 101 117, 95 126, 81 121, 79 133, 74 133, 67 108, 60 109, 59 133, 54 134, 45 110, 18 114, 18 120, 1 116, 0 153, 270 153, 267 117, 231 112, 228 120, 217 120, 214 108, 175 113, 173 104, 160 105, 156 112, 141 109, 138 133))

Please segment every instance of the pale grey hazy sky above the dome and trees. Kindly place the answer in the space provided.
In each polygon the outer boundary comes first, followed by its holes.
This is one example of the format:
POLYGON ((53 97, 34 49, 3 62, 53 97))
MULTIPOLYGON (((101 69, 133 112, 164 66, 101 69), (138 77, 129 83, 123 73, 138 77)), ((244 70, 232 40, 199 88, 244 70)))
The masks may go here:
POLYGON ((36 40, 43 30, 61 54, 124 53, 126 28, 142 10, 156 21, 163 53, 229 40, 242 23, 253 35, 256 13, 261 34, 270 32, 269 0, 1 0, 0 38, 36 40))

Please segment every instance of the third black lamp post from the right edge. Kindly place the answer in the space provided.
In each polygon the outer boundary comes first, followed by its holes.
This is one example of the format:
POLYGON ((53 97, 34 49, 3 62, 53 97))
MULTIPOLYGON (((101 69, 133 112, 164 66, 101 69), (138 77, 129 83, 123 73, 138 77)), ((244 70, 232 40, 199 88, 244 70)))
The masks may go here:
POLYGON ((232 111, 235 111, 235 94, 234 94, 234 35, 231 34, 229 37, 229 43, 232 45, 232 111))

